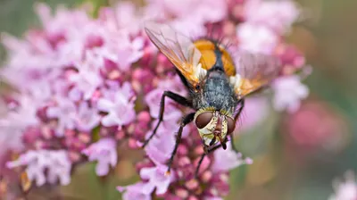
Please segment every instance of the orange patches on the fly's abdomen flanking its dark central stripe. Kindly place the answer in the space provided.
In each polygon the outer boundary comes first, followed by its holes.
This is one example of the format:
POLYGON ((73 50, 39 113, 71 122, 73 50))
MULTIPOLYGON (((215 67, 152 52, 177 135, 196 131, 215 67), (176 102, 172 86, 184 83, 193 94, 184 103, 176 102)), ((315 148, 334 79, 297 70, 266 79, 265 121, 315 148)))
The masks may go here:
MULTIPOLYGON (((194 42, 195 47, 201 52, 202 57, 200 63, 203 65, 203 69, 210 70, 214 63, 216 63, 217 56, 214 53, 215 44, 211 40, 208 39, 199 39, 194 42)), ((222 63, 224 71, 228 76, 235 76, 236 75, 236 68, 233 63, 230 54, 228 51, 223 47, 219 46, 220 52, 222 53, 222 63)))

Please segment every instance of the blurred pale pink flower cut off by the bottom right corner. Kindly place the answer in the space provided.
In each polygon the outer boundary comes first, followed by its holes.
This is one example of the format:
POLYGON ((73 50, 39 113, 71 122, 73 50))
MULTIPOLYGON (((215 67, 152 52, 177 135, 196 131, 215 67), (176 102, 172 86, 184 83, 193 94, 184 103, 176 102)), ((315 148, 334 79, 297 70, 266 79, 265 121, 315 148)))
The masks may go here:
POLYGON ((345 172, 345 180, 334 182, 335 194, 328 200, 354 200, 357 199, 357 183, 352 171, 345 172))

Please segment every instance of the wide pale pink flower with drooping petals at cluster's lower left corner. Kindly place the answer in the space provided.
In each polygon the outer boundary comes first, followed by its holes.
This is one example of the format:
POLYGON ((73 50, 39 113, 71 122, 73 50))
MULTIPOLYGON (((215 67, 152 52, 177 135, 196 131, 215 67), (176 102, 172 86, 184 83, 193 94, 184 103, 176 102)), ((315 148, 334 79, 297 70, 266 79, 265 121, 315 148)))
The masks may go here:
POLYGON ((71 182, 71 162, 64 150, 30 150, 21 154, 17 161, 6 163, 8 168, 21 165, 27 166, 27 175, 30 180, 36 180, 37 187, 44 185, 46 181, 54 184, 59 180, 61 185, 68 185, 71 182))

